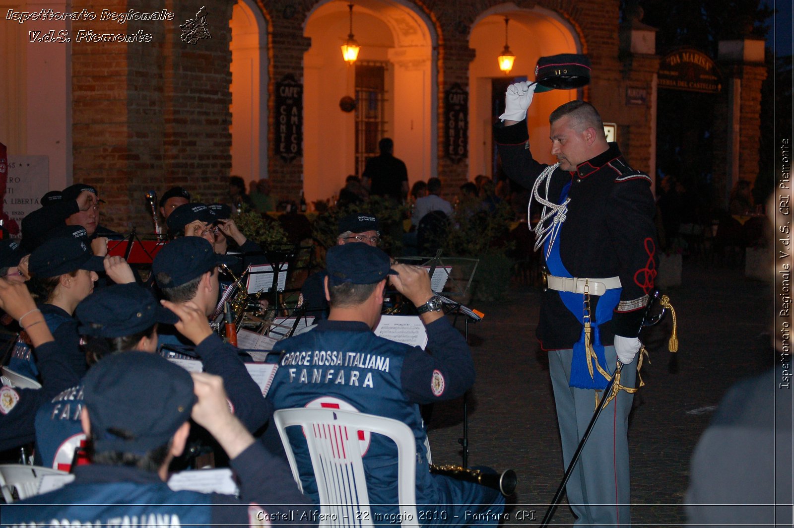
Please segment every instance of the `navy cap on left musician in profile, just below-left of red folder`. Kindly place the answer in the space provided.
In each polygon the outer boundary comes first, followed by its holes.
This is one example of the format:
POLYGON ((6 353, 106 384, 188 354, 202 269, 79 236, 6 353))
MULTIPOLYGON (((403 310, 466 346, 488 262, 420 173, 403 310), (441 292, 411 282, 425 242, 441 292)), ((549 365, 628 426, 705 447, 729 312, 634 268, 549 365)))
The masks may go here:
POLYGON ((57 237, 44 241, 30 254, 28 269, 32 276, 57 277, 64 273, 87 269, 103 272, 101 256, 94 256, 85 241, 75 237, 57 237))

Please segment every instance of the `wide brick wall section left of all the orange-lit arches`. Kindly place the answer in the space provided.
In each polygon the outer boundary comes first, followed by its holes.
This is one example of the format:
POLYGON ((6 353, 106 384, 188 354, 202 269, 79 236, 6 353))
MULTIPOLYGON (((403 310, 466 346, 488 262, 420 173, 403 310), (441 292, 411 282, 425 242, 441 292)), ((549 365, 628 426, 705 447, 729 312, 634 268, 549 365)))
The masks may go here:
POLYGON ((151 42, 73 42, 72 134, 75 182, 91 183, 106 205, 102 223, 151 232, 145 209, 158 195, 184 185, 206 201, 225 195, 231 168, 229 2, 204 2, 212 38, 183 42, 179 24, 195 17, 187 2, 86 2, 86 8, 124 12, 169 10, 172 21, 75 22, 95 33, 152 34, 151 42))

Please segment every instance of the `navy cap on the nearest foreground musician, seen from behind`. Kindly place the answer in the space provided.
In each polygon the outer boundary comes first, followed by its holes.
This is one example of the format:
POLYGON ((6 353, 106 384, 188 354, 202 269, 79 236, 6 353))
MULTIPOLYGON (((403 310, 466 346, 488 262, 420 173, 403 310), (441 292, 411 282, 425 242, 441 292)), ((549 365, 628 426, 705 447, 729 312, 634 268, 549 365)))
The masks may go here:
POLYGON ((83 378, 94 451, 145 454, 168 444, 191 418, 193 378, 146 352, 107 356, 83 378))

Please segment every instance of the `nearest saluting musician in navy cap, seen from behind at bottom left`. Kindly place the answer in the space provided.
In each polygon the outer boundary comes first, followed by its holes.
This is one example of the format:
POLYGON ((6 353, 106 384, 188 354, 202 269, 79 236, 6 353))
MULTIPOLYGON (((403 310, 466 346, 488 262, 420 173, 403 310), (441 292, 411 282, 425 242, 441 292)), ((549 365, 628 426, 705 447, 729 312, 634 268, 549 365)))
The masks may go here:
POLYGON ((3 525, 310 524, 311 507, 289 469, 229 412, 220 377, 191 375, 155 354, 124 352, 91 368, 83 396, 80 422, 93 464, 76 467, 64 488, 4 505, 3 525), (240 499, 165 484, 168 465, 185 449, 190 418, 229 455, 240 499))

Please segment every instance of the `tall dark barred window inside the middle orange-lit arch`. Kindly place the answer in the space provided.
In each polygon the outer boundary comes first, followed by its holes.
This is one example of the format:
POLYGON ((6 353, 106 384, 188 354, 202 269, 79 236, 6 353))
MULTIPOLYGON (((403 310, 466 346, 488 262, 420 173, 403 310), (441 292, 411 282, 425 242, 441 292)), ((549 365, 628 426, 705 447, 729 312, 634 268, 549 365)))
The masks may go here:
POLYGON ((388 63, 356 64, 356 175, 377 156, 378 141, 386 135, 386 71, 388 63))

